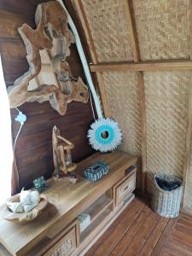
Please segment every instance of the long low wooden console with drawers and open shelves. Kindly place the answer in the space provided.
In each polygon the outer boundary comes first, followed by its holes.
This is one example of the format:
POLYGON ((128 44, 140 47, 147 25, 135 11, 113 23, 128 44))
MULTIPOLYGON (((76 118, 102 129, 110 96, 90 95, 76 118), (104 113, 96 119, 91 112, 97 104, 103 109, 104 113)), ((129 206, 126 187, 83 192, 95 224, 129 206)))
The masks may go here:
POLYGON ((0 255, 84 255, 132 201, 137 157, 121 152, 94 154, 79 163, 77 172, 103 160, 109 173, 96 183, 76 184, 49 179, 44 192, 49 205, 27 224, 0 219, 0 255), (90 214, 90 225, 79 232, 78 215, 90 214))

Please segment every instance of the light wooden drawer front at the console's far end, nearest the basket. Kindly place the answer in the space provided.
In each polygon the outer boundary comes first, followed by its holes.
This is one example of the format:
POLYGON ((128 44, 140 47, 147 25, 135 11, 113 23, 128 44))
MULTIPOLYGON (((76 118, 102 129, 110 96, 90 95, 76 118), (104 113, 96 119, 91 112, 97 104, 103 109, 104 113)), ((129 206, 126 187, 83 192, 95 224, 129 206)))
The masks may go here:
POLYGON ((128 195, 133 189, 136 188, 136 172, 130 177, 125 177, 122 183, 115 186, 115 204, 119 205, 121 201, 128 195))

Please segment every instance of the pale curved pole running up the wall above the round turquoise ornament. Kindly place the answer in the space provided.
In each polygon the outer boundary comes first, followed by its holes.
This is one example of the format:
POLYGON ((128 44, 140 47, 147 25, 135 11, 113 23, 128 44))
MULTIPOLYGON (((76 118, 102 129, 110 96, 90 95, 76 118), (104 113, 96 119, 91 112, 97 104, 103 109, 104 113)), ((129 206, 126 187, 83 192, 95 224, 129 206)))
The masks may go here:
POLYGON ((91 76, 90 76, 90 68, 88 66, 86 57, 84 55, 84 49, 82 47, 82 44, 81 44, 81 41, 80 41, 80 38, 79 38, 79 33, 77 31, 76 26, 73 23, 72 17, 69 15, 69 13, 68 13, 64 3, 62 2, 62 0, 57 0, 57 1, 59 3, 61 3, 62 8, 65 9, 65 11, 67 12, 68 25, 70 26, 70 28, 73 32, 74 38, 75 38, 75 44, 77 46, 79 56, 80 56, 80 59, 81 59, 81 63, 82 63, 83 68, 84 68, 84 75, 87 79, 88 85, 90 87, 90 91, 92 93, 92 96, 93 96, 93 99, 94 99, 94 102, 95 102, 97 116, 98 116, 99 119, 101 119, 103 117, 101 104, 100 104, 99 98, 96 94, 96 89, 94 87, 93 81, 92 81, 91 76))

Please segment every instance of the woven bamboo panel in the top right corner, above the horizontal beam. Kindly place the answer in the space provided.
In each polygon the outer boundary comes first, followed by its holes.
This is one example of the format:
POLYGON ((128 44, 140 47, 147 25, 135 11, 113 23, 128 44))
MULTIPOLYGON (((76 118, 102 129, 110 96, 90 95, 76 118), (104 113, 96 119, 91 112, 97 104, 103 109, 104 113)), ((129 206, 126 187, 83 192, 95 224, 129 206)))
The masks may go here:
POLYGON ((133 0, 143 61, 188 59, 190 0, 133 0))

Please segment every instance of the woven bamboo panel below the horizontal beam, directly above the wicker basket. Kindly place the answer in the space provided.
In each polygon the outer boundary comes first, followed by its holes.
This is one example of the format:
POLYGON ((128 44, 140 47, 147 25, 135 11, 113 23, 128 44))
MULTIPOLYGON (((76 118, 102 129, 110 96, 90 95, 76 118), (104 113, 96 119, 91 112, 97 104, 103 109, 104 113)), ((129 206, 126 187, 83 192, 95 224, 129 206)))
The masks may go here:
POLYGON ((144 73, 147 172, 183 177, 189 72, 144 73))

